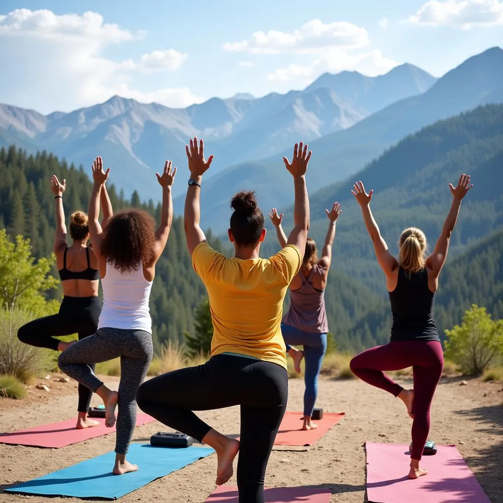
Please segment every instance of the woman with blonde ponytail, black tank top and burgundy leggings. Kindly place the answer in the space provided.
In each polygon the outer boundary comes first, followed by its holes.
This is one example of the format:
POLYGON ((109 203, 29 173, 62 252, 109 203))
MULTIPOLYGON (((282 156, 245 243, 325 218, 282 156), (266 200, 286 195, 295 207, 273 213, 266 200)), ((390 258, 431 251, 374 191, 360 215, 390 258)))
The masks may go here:
POLYGON ((408 473, 411 479, 428 473, 420 468, 419 463, 430 432, 430 406, 444 365, 433 303, 461 200, 472 186, 470 175, 461 175, 456 187, 449 184, 453 201, 433 253, 429 257, 426 255, 425 233, 416 227, 408 227, 398 240, 398 260, 389 252, 370 211, 372 191, 367 194, 362 182, 355 183, 351 191, 362 209, 377 261, 386 276, 393 314, 390 342, 355 356, 351 370, 363 381, 400 398, 407 407, 407 413, 413 419, 408 473), (413 370, 413 389, 403 389, 384 374, 407 367, 413 370))

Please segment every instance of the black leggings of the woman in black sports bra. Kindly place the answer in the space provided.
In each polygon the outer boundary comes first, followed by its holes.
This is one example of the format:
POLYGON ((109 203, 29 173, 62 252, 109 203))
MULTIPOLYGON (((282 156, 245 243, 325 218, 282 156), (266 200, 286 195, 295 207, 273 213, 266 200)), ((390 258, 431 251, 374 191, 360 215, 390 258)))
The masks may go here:
MULTIPOLYGON (((98 328, 101 302, 98 297, 63 297, 59 312, 34 319, 18 330, 21 342, 57 351, 60 341, 55 337, 78 334, 78 340, 92 336, 98 328)), ((94 370, 95 366, 90 365, 94 370)), ((87 412, 93 395, 86 386, 78 385, 79 412, 87 412)))

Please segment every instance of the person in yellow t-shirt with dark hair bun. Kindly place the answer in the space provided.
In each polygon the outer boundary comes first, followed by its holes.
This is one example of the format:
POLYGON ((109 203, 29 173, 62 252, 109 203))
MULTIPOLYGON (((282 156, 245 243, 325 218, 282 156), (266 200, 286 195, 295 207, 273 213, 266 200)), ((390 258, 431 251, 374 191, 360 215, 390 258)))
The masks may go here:
POLYGON ((232 476, 239 451, 239 503, 264 503, 264 478, 274 439, 288 399, 286 347, 281 333, 283 300, 302 264, 309 227, 305 174, 311 152, 296 144, 291 162, 283 157, 295 189, 294 228, 286 246, 269 259, 259 257, 266 237, 264 214, 254 192, 231 201, 228 259, 206 241, 200 227, 199 195, 209 168, 203 140, 187 146, 191 178, 185 201, 185 232, 192 265, 210 299, 213 339, 209 361, 155 377, 141 385, 140 408, 161 423, 213 447, 217 453, 216 484, 232 476), (193 410, 240 405, 239 441, 217 432, 193 410))

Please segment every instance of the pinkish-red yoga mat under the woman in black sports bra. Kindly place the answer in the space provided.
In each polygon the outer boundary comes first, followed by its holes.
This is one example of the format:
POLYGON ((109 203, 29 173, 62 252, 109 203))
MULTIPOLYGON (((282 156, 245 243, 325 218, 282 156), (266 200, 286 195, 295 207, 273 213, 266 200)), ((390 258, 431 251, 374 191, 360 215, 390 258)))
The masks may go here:
MULTIPOLYGON (((37 426, 29 430, 0 433, 0 444, 28 445, 32 447, 51 447, 53 449, 59 449, 60 447, 76 444, 77 442, 101 437, 109 433, 115 433, 115 426, 113 428, 107 428, 104 418, 93 417, 93 419, 99 421, 100 426, 77 430, 75 428, 77 418, 74 417, 66 421, 61 421, 60 423, 37 426)), ((152 421, 155 421, 154 418, 147 414, 138 414, 136 416, 136 426, 144 425, 152 421)))

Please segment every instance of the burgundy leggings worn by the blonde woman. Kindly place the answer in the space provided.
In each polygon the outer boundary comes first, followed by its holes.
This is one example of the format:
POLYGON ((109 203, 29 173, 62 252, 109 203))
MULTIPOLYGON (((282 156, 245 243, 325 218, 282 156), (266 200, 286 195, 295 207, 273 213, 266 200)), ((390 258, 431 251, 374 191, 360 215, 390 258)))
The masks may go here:
POLYGON ((442 344, 438 341, 391 342, 360 353, 351 360, 350 365, 360 379, 393 396, 397 396, 403 388, 383 371, 412 367, 414 421, 410 457, 421 459, 430 433, 430 406, 444 367, 442 344))

